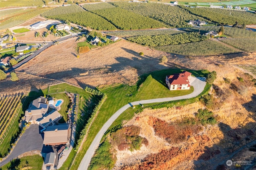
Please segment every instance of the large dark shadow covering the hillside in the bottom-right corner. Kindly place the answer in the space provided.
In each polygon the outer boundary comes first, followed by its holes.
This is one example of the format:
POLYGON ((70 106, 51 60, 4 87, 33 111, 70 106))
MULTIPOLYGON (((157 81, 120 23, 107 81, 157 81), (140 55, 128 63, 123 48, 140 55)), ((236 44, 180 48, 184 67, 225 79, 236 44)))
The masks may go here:
MULTIPOLYGON (((243 107, 251 112, 249 115, 254 121, 256 121, 256 95, 252 95, 252 101, 243 104, 243 107)), ((239 116, 243 116, 242 113, 237 113, 239 116)), ((256 168, 256 154, 250 156, 250 160, 244 158, 242 160, 236 160, 241 158, 241 153, 246 151, 256 152, 256 123, 250 122, 240 128, 232 129, 229 125, 219 123, 220 130, 222 131, 224 138, 220 140, 218 144, 214 144, 212 147, 205 147, 204 154, 202 154, 198 160, 194 161, 196 170, 206 169, 251 169, 256 168), (235 167, 234 162, 231 166, 227 166, 226 161, 252 161, 252 164, 241 165, 241 167, 235 167)), ((247 152, 246 152, 247 153, 247 152)), ((239 163, 238 163, 239 164, 239 163)))

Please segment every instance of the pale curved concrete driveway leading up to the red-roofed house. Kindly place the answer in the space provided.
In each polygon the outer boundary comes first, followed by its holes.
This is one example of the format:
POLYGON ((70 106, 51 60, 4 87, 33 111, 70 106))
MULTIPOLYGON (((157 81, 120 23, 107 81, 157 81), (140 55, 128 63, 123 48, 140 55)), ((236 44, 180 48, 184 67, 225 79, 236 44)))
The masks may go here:
MULTIPOLYGON (((194 87, 194 91, 188 95, 184 96, 178 96, 178 97, 168 97, 168 98, 160 98, 160 99, 150 99, 150 100, 141 100, 141 101, 134 101, 131 102, 132 105, 139 105, 141 104, 146 104, 146 103, 159 103, 159 102, 165 102, 165 101, 172 101, 172 100, 179 100, 179 99, 189 99, 192 97, 196 97, 199 95, 203 90, 206 85, 205 78, 204 77, 190 77, 189 79, 190 85, 194 87)), ((112 123, 124 112, 126 109, 131 107, 129 104, 123 106, 121 109, 119 109, 108 121, 102 126, 98 134, 95 136, 94 140, 92 141, 92 144, 88 148, 86 154, 84 155, 84 158, 82 159, 78 170, 87 170, 88 166, 90 164, 90 161, 92 159, 92 156, 94 155, 94 152, 96 148, 98 148, 100 144, 100 140, 106 130, 112 125, 112 123)))

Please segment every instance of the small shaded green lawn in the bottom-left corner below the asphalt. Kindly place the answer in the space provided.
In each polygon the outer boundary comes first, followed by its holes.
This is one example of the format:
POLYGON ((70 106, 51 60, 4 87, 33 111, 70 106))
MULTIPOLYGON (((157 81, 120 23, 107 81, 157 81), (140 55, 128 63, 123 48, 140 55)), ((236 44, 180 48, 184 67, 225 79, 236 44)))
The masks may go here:
POLYGON ((40 170, 42 169, 44 159, 40 155, 24 156, 20 159, 14 159, 12 162, 7 163, 2 166, 1 170, 18 170, 18 169, 32 169, 40 170), (27 167, 27 168, 25 168, 27 167), (31 168, 28 168, 31 167, 31 168))

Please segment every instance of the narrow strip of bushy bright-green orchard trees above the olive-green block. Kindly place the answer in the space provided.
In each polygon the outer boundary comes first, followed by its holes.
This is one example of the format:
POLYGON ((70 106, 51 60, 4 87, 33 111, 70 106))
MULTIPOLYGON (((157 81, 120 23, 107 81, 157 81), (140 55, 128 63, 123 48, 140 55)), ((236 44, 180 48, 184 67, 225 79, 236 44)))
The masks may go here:
POLYGON ((127 38, 127 40, 131 42, 136 42, 151 47, 199 42, 206 39, 206 36, 201 36, 196 32, 175 35, 135 36, 127 38))

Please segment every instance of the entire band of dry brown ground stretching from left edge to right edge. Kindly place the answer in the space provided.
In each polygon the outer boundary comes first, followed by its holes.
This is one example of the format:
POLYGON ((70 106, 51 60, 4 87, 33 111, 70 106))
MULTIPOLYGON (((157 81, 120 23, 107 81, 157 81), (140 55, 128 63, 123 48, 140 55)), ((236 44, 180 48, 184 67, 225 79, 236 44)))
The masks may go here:
POLYGON ((233 65, 255 63, 255 53, 217 57, 184 57, 152 50, 125 40, 93 49, 77 58, 76 44, 75 40, 70 40, 46 49, 36 58, 16 69, 23 73, 19 73, 21 74, 19 82, 13 83, 10 79, 1 81, 0 92, 45 88, 55 81, 66 81, 81 87, 86 85, 97 87, 113 83, 134 84, 138 76, 143 73, 169 67, 216 70, 220 77, 226 73, 232 76, 234 70, 238 70, 232 67, 233 65), (144 56, 138 54, 141 51, 144 52, 144 56), (168 57, 166 64, 159 63, 163 55, 168 57), (42 80, 37 82, 30 75, 38 76, 36 79, 42 80), (15 86, 12 86, 13 84, 15 86))

